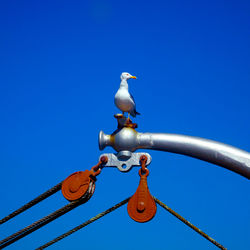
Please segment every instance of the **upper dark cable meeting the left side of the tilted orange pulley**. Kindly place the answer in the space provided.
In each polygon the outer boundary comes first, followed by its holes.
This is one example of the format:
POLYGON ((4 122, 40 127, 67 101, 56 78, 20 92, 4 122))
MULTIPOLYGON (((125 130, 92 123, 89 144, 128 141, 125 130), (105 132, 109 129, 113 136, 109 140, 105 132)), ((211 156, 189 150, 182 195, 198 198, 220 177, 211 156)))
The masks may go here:
POLYGON ((3 219, 0 220, 0 225, 5 223, 6 221, 12 219, 13 217, 17 216, 18 214, 24 212, 25 210, 33 207, 34 205, 36 205, 40 201, 48 198, 52 194, 56 193, 57 191, 59 191, 61 189, 61 186, 62 186, 62 182, 58 183, 57 185, 55 185, 51 189, 47 190, 43 194, 37 196, 35 199, 33 199, 30 202, 26 203, 25 205, 23 205, 22 207, 20 207, 16 211, 14 211, 11 214, 7 215, 6 217, 4 217, 3 219))

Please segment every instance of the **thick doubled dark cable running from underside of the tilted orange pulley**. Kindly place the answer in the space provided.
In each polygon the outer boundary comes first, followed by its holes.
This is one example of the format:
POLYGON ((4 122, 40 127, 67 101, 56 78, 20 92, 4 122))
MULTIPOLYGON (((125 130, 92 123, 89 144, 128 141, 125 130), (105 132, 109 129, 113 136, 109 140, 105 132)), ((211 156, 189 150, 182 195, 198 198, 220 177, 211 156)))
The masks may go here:
POLYGON ((8 236, 7 238, 0 241, 0 249, 14 243, 15 241, 23 238, 24 236, 36 231, 40 227, 48 224, 49 222, 57 219, 58 217, 62 216, 63 214, 71 211, 72 209, 78 207, 79 205, 86 202, 92 194, 87 192, 81 199, 72 201, 71 203, 65 205, 64 207, 56 210, 55 212, 43 217, 42 219, 32 223, 31 225, 19 230, 18 232, 8 236))

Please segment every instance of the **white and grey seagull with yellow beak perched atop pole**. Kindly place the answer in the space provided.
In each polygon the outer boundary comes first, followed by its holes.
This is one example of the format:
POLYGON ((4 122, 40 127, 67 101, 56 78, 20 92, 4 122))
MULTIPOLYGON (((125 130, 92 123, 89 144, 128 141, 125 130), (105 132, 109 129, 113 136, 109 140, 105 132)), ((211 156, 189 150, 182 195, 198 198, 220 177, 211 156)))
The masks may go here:
POLYGON ((140 113, 136 111, 134 97, 128 92, 127 80, 131 78, 136 79, 135 76, 132 76, 127 72, 123 72, 121 74, 120 88, 115 94, 115 105, 122 111, 123 114, 124 112, 128 112, 128 118, 129 115, 132 115, 133 117, 140 115, 140 113))

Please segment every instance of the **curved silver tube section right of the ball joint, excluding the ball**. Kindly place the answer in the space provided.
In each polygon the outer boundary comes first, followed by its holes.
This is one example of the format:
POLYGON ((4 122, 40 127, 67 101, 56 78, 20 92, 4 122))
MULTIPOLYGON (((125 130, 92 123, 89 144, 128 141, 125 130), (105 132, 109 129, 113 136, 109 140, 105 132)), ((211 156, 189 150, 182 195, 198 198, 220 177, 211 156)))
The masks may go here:
POLYGON ((238 148, 199 137, 177 134, 139 133, 138 147, 188 155, 250 179, 250 154, 238 148))

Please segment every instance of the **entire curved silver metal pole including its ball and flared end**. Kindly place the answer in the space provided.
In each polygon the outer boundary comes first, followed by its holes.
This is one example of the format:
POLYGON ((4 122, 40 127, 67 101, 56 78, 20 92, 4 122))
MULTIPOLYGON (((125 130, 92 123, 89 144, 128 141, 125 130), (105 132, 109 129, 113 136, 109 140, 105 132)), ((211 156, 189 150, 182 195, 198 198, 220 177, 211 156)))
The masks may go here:
POLYGON ((117 152, 153 149, 198 158, 234 171, 250 179, 250 153, 220 142, 177 134, 137 133, 122 128, 112 135, 99 134, 99 148, 113 147, 117 152))

